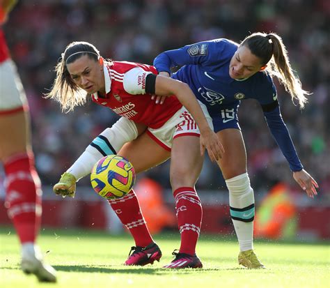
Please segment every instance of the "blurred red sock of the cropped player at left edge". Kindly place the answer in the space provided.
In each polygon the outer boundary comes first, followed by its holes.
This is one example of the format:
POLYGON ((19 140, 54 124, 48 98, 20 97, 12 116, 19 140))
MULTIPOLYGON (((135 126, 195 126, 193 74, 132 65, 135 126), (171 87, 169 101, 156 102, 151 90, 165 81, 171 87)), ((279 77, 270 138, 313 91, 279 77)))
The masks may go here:
POLYGON ((40 229, 40 179, 33 155, 16 155, 4 163, 6 173, 5 207, 21 243, 35 242, 40 229))

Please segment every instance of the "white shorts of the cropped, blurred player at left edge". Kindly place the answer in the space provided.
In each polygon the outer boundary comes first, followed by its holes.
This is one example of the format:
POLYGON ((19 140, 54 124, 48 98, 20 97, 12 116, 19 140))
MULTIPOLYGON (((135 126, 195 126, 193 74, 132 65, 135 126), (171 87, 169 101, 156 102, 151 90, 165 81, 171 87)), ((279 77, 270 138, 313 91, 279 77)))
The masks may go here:
POLYGON ((27 105, 17 68, 10 59, 0 63, 0 115, 24 109, 27 105))

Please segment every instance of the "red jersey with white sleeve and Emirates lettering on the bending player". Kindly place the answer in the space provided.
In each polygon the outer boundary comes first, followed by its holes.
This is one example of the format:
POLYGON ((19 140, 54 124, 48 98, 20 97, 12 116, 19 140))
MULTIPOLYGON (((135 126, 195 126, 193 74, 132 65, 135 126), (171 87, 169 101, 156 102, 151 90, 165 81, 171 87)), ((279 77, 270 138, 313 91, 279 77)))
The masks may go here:
POLYGON ((182 104, 175 96, 166 98, 162 105, 151 100, 146 93, 146 76, 158 74, 154 66, 126 61, 114 61, 104 65, 106 97, 101 98, 94 93, 92 99, 104 105, 116 114, 136 123, 157 129, 170 119, 182 104))

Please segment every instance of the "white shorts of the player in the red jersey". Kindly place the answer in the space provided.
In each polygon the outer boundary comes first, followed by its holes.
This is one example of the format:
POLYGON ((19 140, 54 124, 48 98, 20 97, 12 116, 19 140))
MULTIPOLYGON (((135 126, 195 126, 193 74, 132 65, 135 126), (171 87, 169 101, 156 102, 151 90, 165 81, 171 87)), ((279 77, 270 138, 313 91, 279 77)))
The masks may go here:
MULTIPOLYGON (((199 102, 199 101, 198 101, 199 102)), ((207 122, 213 129, 212 118, 207 112, 206 106, 199 102, 201 108, 205 114, 207 122)), ((199 131, 197 124, 191 114, 186 108, 182 107, 178 112, 176 112, 171 119, 158 129, 147 129, 148 135, 157 144, 162 146, 164 149, 171 151, 173 139, 180 136, 196 136, 199 137, 201 132, 199 131)))

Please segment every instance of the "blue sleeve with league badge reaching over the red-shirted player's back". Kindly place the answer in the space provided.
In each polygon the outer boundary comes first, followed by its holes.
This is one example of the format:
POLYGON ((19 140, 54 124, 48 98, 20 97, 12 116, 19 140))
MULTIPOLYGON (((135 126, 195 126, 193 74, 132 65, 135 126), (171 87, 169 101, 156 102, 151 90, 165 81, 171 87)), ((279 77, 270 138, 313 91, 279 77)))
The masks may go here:
POLYGON ((158 72, 166 71, 171 74, 171 68, 184 65, 210 65, 214 59, 219 59, 226 43, 221 39, 204 41, 186 45, 175 50, 168 50, 159 54, 153 65, 158 72))

